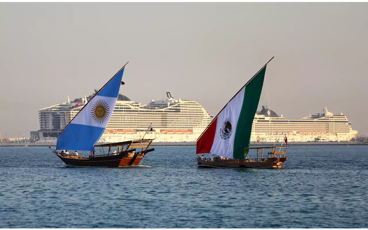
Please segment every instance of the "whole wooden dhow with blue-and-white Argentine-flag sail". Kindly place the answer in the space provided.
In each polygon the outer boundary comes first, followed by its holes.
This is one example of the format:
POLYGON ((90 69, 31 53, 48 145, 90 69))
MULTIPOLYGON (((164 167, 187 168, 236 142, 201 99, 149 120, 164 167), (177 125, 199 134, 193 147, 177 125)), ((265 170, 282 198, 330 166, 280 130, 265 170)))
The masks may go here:
POLYGON ((53 153, 56 153, 68 166, 123 167, 137 165, 146 153, 155 150, 148 149, 153 139, 96 145, 109 123, 120 85, 124 85, 124 82, 121 81, 124 68, 125 66, 82 107, 57 137, 56 149, 53 153), (95 155, 95 147, 102 148, 103 154, 95 155), (107 153, 104 147, 109 148, 107 153), (117 151, 112 152, 112 148, 117 151), (142 148, 142 150, 136 152, 137 148, 142 148), (61 149, 63 151, 59 152, 61 149), (69 154, 66 149, 72 149, 75 153, 69 154), (88 151, 91 152, 91 155, 88 158, 79 156, 77 151, 88 151))

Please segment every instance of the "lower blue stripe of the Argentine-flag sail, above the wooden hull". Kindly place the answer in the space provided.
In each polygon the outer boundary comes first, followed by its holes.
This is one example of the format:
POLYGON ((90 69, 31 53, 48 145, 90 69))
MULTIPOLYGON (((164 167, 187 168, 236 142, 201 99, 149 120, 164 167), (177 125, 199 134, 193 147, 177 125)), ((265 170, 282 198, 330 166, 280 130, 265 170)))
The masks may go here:
POLYGON ((105 128, 69 124, 57 138, 56 149, 95 151, 93 145, 101 137, 105 128))

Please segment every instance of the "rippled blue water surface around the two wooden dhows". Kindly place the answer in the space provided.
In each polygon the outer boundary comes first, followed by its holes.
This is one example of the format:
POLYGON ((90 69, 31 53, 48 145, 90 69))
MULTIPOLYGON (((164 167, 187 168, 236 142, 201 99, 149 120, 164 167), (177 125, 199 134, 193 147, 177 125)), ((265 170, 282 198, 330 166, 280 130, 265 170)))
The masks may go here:
POLYGON ((368 227, 368 146, 291 146, 283 169, 206 169, 195 146, 155 148, 106 169, 1 147, 0 227, 368 227))

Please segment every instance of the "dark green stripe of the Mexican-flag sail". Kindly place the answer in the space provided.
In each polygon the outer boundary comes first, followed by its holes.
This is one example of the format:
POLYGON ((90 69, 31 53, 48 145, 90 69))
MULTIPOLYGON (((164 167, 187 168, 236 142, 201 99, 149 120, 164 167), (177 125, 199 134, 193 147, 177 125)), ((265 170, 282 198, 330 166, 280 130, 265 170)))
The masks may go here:
POLYGON ((252 123, 261 97, 265 72, 266 67, 245 86, 243 106, 241 107, 234 138, 234 159, 244 159, 244 156, 248 154, 248 149, 244 154, 244 148, 248 148, 250 145, 252 123))

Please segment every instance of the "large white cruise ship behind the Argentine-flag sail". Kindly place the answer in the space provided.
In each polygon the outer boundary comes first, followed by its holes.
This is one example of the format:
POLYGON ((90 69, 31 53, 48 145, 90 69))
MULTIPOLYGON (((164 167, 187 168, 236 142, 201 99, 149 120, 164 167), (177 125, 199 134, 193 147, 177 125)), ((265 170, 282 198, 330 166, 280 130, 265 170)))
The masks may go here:
MULTIPOLYGON (((120 142, 143 137, 155 139, 155 142, 196 141, 212 116, 198 102, 174 99, 170 91, 166 95, 166 99, 151 100, 141 105, 119 94, 99 142, 120 142), (147 132, 151 123, 153 130, 147 132)), ((67 103, 39 110, 40 139, 55 139, 92 96, 72 102, 68 97, 67 103)))

